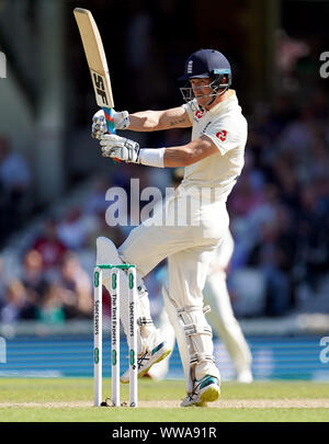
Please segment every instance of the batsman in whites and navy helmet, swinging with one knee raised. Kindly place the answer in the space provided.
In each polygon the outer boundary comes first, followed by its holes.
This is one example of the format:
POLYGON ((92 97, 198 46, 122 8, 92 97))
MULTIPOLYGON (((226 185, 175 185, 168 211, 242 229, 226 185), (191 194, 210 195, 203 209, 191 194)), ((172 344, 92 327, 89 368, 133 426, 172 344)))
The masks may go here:
MULTIPOLYGON (((191 141, 158 149, 140 148, 134 140, 110 135, 102 111, 93 117, 92 135, 100 139, 102 155, 124 162, 155 168, 184 167, 184 178, 173 196, 164 202, 166 220, 189 224, 149 224, 134 228, 116 250, 106 238, 97 242, 98 263, 136 265, 139 293, 138 376, 166 357, 171 349, 152 323, 143 277, 168 258, 168 293, 164 305, 174 326, 181 357, 188 360, 186 397, 182 407, 204 406, 218 399, 219 371, 213 356, 212 328, 205 317, 203 288, 208 266, 229 225, 226 201, 243 167, 247 121, 236 92, 230 89, 231 69, 215 49, 200 49, 186 60, 181 78, 185 103, 164 111, 114 113, 117 129, 152 132, 192 128, 191 141), (182 209, 183 208, 183 209, 182 209), (120 261, 120 262, 118 262, 120 261), (168 309, 170 307, 170 309, 168 309)), ((104 285, 110 285, 104 276, 104 285)), ((126 284, 127 285, 127 284, 126 284)), ((122 288, 122 294, 124 294, 122 288)), ((122 296, 121 304, 126 304, 122 296)), ((122 312, 125 312, 123 309, 122 312)), ((121 318, 125 332, 127 319, 121 318)), ((124 374, 122 382, 127 382, 124 374)))

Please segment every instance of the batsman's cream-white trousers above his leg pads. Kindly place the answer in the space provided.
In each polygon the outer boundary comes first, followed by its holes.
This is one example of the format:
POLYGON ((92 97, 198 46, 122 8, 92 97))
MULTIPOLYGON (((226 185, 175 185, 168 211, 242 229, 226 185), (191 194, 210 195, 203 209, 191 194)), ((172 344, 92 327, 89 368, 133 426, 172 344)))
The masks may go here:
MULTIPOLYGON (((136 265, 141 277, 168 258, 170 297, 178 308, 202 309, 202 291, 208 265, 227 231, 229 219, 225 202, 203 200, 200 205, 197 193, 189 194, 189 198, 186 209, 185 191, 178 187, 175 195, 164 205, 167 220, 174 220, 177 215, 181 225, 155 226, 148 219, 131 231, 118 253, 125 262, 136 265), (186 216, 190 218, 189 224, 182 226, 186 216)), ((162 208, 158 207, 157 212, 162 212, 162 208)), ((204 350, 205 354, 213 354, 212 346, 204 350)), ((206 374, 217 375, 215 368, 211 362, 203 362, 196 366, 195 377, 198 379, 206 374)))

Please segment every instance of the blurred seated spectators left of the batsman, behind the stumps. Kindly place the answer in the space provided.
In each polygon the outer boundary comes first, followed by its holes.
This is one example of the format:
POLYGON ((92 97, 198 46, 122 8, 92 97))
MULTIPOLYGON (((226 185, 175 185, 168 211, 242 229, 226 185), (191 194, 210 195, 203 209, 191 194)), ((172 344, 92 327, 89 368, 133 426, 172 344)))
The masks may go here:
POLYGON ((15 270, 5 273, 5 257, 0 257, 0 322, 57 325, 92 317, 95 238, 102 235, 115 241, 118 232, 105 224, 109 186, 98 179, 86 202, 75 203, 61 217, 45 215, 39 228, 26 235, 29 241, 18 247, 15 270))

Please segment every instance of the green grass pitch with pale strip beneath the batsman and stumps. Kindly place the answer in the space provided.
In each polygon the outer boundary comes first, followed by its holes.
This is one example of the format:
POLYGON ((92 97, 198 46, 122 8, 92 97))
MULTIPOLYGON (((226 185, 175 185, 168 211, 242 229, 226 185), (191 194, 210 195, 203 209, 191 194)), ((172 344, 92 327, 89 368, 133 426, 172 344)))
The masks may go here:
MULTIPOLYGON (((183 380, 139 379, 139 407, 93 407, 91 378, 0 378, 0 422, 328 422, 329 383, 223 383, 211 407, 180 408, 183 380)), ((110 382, 103 384, 110 396, 110 382)), ((122 400, 128 386, 122 385, 122 400)))

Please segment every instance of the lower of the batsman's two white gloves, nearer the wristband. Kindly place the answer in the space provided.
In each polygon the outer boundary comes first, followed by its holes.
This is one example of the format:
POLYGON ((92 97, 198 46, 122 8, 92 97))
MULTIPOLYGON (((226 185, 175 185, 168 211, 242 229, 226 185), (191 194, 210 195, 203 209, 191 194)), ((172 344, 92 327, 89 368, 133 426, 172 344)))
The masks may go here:
POLYGON ((115 134, 104 134, 101 137, 103 157, 112 157, 124 162, 140 163, 139 144, 137 141, 116 136, 115 134))

